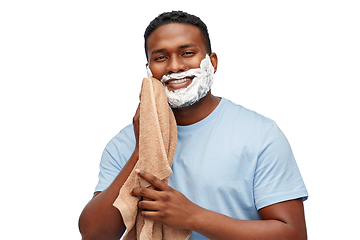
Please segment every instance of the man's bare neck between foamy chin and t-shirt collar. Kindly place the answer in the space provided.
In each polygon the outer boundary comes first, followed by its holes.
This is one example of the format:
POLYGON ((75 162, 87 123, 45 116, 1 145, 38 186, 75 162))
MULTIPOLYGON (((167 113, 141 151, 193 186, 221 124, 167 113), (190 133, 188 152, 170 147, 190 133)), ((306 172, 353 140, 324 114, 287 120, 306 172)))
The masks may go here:
POLYGON ((220 102, 220 98, 208 94, 191 106, 173 108, 176 123, 179 126, 186 126, 197 123, 212 113, 220 102))

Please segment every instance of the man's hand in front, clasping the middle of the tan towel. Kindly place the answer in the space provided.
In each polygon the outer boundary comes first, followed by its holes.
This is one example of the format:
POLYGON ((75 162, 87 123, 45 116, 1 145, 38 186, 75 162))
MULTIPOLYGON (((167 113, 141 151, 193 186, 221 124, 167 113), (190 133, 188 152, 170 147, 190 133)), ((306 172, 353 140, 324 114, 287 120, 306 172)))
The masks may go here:
POLYGON ((134 188, 130 193, 132 196, 146 199, 138 203, 141 214, 145 218, 161 222, 173 228, 193 229, 194 216, 201 209, 199 206, 154 175, 141 170, 135 172, 155 187, 155 190, 134 188))

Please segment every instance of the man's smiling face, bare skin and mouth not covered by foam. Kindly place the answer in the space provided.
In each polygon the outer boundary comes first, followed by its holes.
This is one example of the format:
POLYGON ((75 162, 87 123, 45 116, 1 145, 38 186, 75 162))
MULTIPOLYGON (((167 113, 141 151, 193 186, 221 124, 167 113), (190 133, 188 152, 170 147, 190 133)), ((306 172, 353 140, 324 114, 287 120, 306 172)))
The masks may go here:
MULTIPOLYGON (((171 23, 157 28, 147 39, 149 68, 156 79, 164 75, 199 68, 206 46, 199 28, 190 24, 171 23)), ((216 69, 216 68, 215 68, 216 69)), ((192 77, 165 82, 169 91, 188 87, 192 77)))

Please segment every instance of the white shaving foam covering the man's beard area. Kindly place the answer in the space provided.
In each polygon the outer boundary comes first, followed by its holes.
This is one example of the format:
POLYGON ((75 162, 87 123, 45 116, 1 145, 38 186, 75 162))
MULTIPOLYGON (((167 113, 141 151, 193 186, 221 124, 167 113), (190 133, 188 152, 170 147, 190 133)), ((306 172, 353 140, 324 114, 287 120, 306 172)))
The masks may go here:
MULTIPOLYGON (((148 78, 152 77, 149 66, 147 66, 146 69, 148 78)), ((161 82, 164 85, 169 105, 172 108, 181 108, 190 106, 205 97, 213 84, 213 79, 214 67, 211 64, 209 55, 206 54, 205 58, 200 63, 200 68, 164 75, 161 78, 161 82), (195 77, 187 88, 169 91, 165 85, 165 82, 170 79, 182 79, 193 76, 195 77)))

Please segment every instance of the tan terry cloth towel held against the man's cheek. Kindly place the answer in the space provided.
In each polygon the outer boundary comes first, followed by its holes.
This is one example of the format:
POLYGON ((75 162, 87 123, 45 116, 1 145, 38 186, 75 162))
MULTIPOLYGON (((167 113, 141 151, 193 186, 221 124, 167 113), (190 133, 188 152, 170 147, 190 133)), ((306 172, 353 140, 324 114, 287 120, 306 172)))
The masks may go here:
POLYGON ((177 126, 170 109, 165 89, 159 80, 144 78, 140 93, 139 160, 120 189, 114 206, 119 209, 126 233, 123 240, 187 240, 190 230, 173 229, 159 222, 145 219, 138 212, 138 197, 130 196, 135 187, 150 187, 147 181, 135 174, 141 169, 155 175, 165 183, 172 173, 175 155, 177 126))

